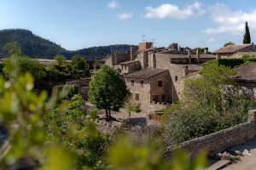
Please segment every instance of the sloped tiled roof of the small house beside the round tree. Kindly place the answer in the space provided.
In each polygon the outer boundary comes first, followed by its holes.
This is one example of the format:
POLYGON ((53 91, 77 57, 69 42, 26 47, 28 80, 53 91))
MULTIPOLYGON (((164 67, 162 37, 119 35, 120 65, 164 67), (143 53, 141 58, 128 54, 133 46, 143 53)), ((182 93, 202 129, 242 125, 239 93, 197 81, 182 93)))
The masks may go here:
POLYGON ((125 75, 124 77, 133 77, 133 78, 150 78, 155 77, 165 71, 165 69, 143 69, 140 71, 135 71, 130 74, 125 75))

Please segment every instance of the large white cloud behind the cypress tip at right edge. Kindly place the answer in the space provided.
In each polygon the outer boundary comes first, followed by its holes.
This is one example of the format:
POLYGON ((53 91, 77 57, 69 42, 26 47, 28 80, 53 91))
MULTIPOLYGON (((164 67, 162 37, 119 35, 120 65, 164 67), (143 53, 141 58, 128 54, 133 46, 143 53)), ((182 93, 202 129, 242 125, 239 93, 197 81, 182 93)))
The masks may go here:
POLYGON ((208 13, 218 26, 216 28, 207 28, 204 31, 207 35, 220 33, 240 35, 244 32, 246 21, 250 31, 256 31, 256 8, 251 13, 244 13, 241 10, 231 11, 224 4, 215 4, 208 8, 208 13))

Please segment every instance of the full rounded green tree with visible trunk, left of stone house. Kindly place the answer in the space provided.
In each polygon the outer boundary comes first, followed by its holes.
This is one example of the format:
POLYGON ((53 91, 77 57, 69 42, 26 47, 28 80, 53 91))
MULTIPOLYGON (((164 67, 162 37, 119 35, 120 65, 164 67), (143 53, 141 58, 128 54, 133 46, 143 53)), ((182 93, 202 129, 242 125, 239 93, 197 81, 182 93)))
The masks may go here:
POLYGON ((107 121, 111 118, 111 111, 119 111, 128 94, 124 80, 108 65, 96 71, 90 82, 90 102, 98 109, 105 109, 107 121))

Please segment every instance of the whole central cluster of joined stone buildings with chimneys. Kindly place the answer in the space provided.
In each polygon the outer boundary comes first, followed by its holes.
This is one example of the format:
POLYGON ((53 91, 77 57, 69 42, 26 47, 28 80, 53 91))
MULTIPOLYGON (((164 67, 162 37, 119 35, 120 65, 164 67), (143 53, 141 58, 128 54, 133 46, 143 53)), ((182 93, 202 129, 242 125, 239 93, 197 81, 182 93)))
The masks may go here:
POLYGON ((207 48, 200 53, 177 43, 154 48, 152 42, 142 42, 137 51, 131 46, 130 56, 113 54, 105 64, 120 72, 143 111, 154 111, 181 99, 183 77, 200 71, 201 64, 212 59, 216 56, 208 54, 207 48))

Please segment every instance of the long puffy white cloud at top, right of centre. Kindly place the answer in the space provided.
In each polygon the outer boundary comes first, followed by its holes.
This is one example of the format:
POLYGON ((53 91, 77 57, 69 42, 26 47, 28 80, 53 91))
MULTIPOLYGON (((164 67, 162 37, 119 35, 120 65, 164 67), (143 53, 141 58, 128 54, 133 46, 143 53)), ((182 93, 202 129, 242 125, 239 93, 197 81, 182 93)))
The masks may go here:
POLYGON ((153 8, 149 6, 146 8, 146 18, 155 18, 155 19, 166 19, 172 18, 176 20, 185 20, 192 16, 199 16, 204 14, 205 10, 201 9, 201 3, 195 2, 191 5, 188 5, 184 8, 179 8, 175 4, 164 3, 159 7, 153 8))

